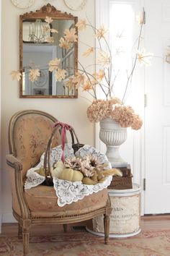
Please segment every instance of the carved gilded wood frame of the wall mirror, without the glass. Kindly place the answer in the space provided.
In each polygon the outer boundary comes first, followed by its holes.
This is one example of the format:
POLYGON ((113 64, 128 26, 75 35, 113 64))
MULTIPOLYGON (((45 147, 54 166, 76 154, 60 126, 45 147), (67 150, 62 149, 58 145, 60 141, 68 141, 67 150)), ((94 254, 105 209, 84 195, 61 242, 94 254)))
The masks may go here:
MULTIPOLYGON (((73 20, 74 24, 78 21, 78 17, 61 12, 53 7, 51 4, 43 6, 36 12, 27 12, 19 15, 19 69, 23 70, 23 21, 24 20, 45 20, 45 17, 51 17, 53 20, 73 20)), ((69 28, 69 27, 68 27, 69 28)), ((78 35, 78 30, 76 33, 78 35)), ((78 70, 78 42, 73 43, 74 47, 74 74, 78 70)), ((19 98, 78 98, 78 90, 74 89, 74 95, 23 95, 22 78, 19 80, 19 98)))

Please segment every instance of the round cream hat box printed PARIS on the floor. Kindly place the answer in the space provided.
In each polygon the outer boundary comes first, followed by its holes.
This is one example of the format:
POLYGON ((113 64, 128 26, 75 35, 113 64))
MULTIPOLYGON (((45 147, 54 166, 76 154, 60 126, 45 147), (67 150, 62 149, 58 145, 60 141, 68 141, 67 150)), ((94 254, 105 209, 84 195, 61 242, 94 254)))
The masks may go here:
MULTIPOLYGON (((140 186, 133 189, 108 189, 112 205, 109 237, 128 237, 140 233, 140 186)), ((103 216, 93 219, 92 227, 86 230, 98 236, 104 236, 103 216)))

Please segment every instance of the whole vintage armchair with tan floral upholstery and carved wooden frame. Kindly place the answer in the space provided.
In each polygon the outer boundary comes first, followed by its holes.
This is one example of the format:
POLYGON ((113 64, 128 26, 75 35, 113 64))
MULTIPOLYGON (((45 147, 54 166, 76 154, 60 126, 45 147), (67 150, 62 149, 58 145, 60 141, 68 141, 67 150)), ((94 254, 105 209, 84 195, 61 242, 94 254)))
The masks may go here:
MULTIPOLYGON (((78 202, 59 207, 55 189, 39 185, 24 189, 27 170, 36 166, 45 151, 53 123, 53 116, 42 111, 20 111, 9 123, 9 155, 6 163, 12 187, 12 210, 19 223, 19 238, 23 239, 23 255, 28 255, 29 230, 32 225, 66 224, 86 221, 104 214, 104 242, 109 239, 111 206, 107 189, 93 193, 78 202)), ((58 131, 55 145, 61 144, 58 131)))

